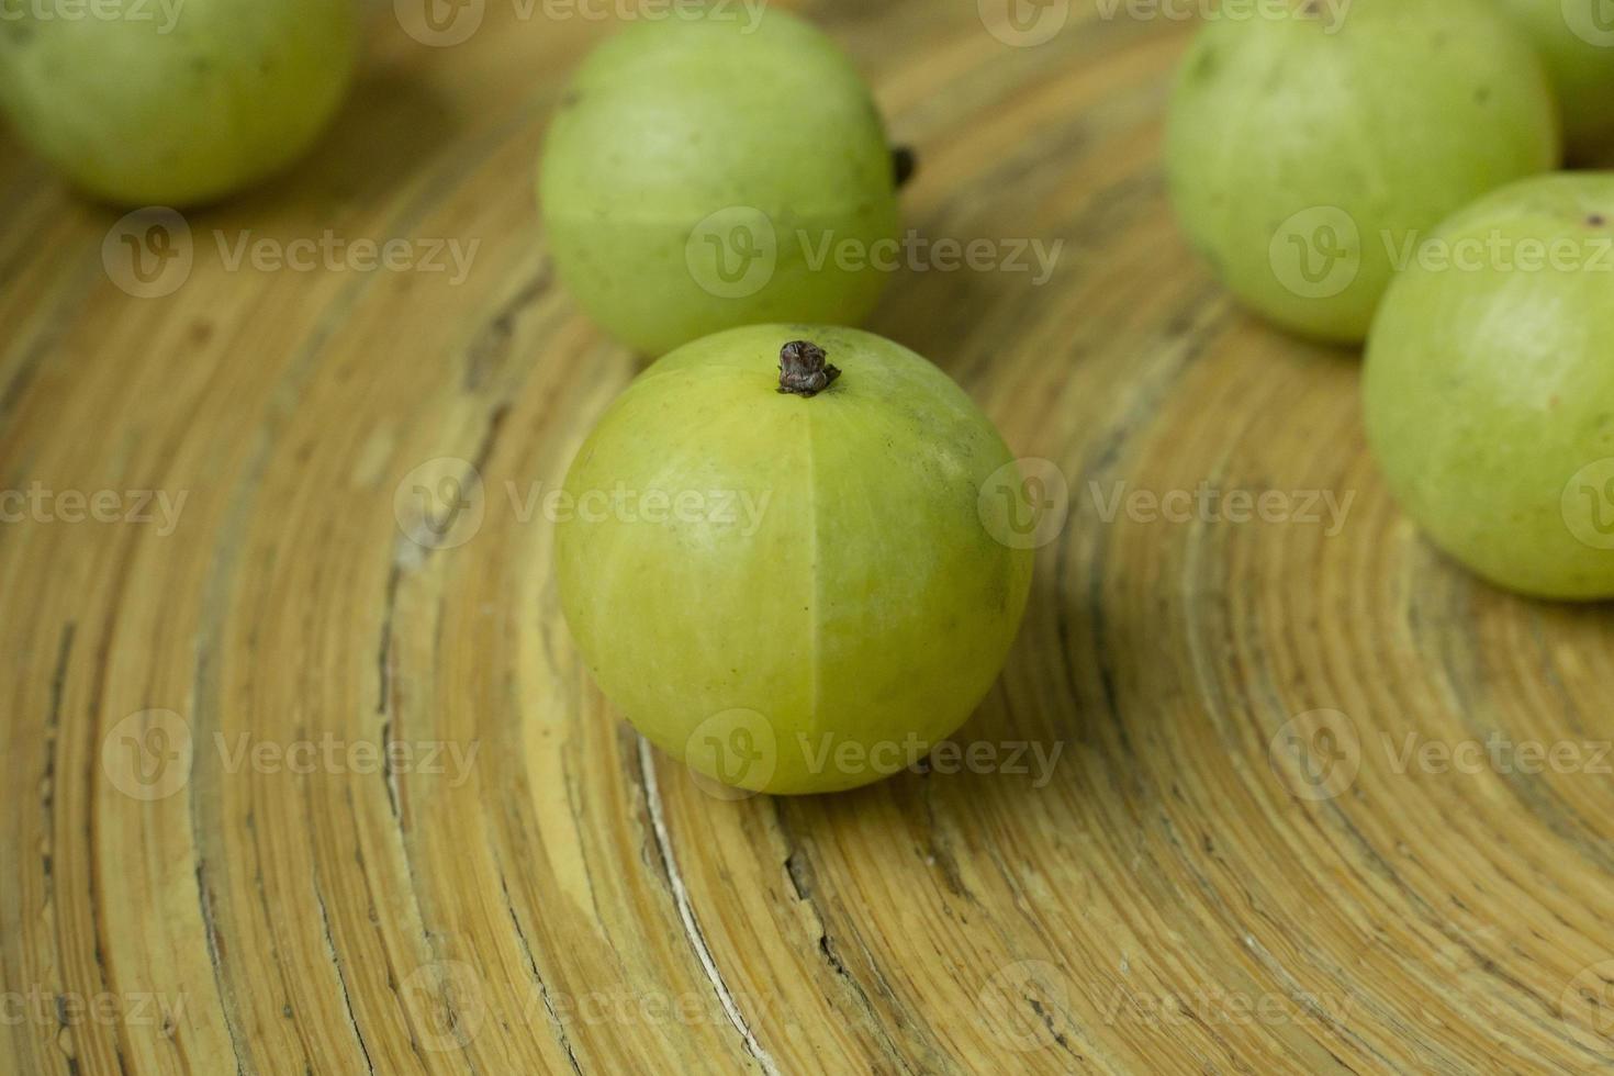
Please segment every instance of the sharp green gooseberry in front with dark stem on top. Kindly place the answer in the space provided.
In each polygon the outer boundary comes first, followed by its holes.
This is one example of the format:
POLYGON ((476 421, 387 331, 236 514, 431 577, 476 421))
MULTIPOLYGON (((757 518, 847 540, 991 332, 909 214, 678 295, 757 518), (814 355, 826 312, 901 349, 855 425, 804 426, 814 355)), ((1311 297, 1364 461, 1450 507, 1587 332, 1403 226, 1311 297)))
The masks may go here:
POLYGON ((1010 461, 962 389, 878 336, 780 324, 697 340, 628 387, 565 487, 730 490, 765 503, 760 524, 562 516, 567 623, 605 695, 709 778, 773 794, 868 784, 888 776, 875 745, 952 734, 1002 668, 1033 555, 991 537, 978 495, 1010 461), (830 390, 778 392, 791 340, 843 369, 830 390), (763 715, 776 749, 741 781, 686 752, 734 708, 763 715), (815 763, 825 736, 875 765, 815 763))

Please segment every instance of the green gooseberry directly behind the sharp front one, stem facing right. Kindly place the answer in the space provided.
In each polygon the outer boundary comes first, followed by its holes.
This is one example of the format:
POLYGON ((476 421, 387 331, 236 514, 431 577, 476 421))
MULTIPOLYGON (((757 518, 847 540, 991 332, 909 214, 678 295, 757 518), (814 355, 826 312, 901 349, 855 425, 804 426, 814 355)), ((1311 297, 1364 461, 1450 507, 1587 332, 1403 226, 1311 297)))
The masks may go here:
MULTIPOLYGON (((738 10, 608 39, 544 144, 539 202, 555 268, 599 326, 646 355, 742 324, 857 324, 889 277, 817 260, 825 239, 870 250, 901 229, 867 82, 801 19, 770 6, 747 31, 738 10), (755 210, 776 242, 776 269, 752 294, 704 287, 688 256, 702 221, 733 206, 755 210)), ((725 256, 736 273, 746 265, 725 256)))

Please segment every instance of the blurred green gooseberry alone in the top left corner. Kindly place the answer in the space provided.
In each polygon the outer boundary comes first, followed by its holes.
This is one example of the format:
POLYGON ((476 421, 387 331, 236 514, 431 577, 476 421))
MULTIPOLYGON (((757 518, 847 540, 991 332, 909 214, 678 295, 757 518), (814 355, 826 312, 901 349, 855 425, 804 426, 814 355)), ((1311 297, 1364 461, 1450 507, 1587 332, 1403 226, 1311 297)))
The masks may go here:
POLYGON ((349 0, 186 0, 168 32, 161 3, 123 10, 42 19, 24 0, 0 23, 0 103, 105 202, 179 208, 250 187, 302 156, 352 81, 349 0))

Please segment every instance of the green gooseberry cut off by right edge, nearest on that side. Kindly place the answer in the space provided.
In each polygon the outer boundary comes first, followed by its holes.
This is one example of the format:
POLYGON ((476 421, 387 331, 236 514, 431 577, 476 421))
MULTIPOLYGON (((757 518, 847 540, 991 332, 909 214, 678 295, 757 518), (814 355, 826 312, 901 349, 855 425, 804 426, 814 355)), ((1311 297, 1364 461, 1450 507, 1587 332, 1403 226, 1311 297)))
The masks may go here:
POLYGON ((1614 552, 1578 540, 1564 505, 1583 468, 1614 458, 1611 221, 1614 173, 1491 194, 1438 237, 1516 252, 1574 240, 1587 268, 1414 263, 1367 348, 1367 434, 1391 492, 1436 545, 1527 595, 1614 597, 1614 552))

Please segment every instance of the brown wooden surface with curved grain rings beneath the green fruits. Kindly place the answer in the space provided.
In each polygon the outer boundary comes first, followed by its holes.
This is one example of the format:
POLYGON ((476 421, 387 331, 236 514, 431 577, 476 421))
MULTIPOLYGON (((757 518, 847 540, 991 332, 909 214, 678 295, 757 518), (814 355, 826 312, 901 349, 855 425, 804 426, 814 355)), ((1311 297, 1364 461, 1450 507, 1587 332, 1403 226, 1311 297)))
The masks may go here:
POLYGON ((1043 287, 901 274, 872 323, 1068 481, 959 736, 1054 765, 725 802, 641 745, 523 507, 634 371, 531 194, 610 26, 491 3, 428 48, 383 11, 332 136, 189 215, 168 297, 103 269, 118 211, 0 152, 0 489, 56 498, 0 526, 0 1071, 1609 1068, 1614 621, 1436 557, 1356 358, 1188 256, 1157 153, 1190 27, 797 6, 918 147, 914 227, 1065 242, 1043 287), (231 269, 240 229, 479 247, 458 286, 231 269), (412 540, 466 465, 450 539, 412 540), (1294 497, 1107 511, 1201 482, 1294 497), (1578 761, 1464 753, 1491 737, 1578 761))

